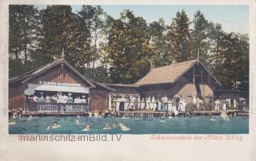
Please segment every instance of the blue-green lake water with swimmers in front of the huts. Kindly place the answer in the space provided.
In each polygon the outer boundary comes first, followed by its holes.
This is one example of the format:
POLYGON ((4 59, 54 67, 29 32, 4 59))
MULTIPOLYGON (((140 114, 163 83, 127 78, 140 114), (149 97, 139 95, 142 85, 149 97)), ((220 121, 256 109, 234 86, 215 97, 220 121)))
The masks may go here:
POLYGON ((230 117, 223 120, 215 116, 215 121, 210 116, 190 116, 166 118, 92 118, 81 116, 80 124, 75 123, 76 116, 34 116, 33 120, 23 117, 16 121, 17 124, 9 125, 10 134, 247 134, 249 133, 249 116, 230 117), (57 121, 60 128, 46 131, 46 125, 57 121), (102 130, 106 123, 117 128, 102 130), (130 131, 123 132, 118 128, 118 123, 123 123, 130 131), (86 124, 90 124, 90 131, 82 131, 86 124))

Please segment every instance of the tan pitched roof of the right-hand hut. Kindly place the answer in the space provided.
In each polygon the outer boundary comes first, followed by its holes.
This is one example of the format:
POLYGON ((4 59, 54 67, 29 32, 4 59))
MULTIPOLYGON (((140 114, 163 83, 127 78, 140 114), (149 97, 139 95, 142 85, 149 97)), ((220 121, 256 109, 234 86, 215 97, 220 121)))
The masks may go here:
MULTIPOLYGON (((181 63, 176 63, 172 65, 163 66, 156 69, 151 69, 149 73, 146 74, 145 77, 142 77, 135 84, 137 85, 146 85, 146 84, 166 84, 166 83, 174 83, 178 81, 179 77, 182 77, 186 71, 188 71, 195 63, 202 63, 198 61, 198 59, 191 61, 184 61, 181 63)), ((205 66, 202 65, 204 69, 205 66)), ((207 69, 206 71, 210 73, 207 69)), ((210 75, 214 77, 211 73, 210 75)), ((219 83, 219 81, 214 77, 214 80, 219 83)), ((220 84, 221 85, 221 84, 220 84)))

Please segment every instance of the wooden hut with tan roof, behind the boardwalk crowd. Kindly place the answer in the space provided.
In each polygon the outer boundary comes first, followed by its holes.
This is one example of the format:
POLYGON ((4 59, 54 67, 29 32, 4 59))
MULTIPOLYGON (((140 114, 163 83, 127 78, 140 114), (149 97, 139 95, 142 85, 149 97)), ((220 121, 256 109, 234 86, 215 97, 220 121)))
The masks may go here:
POLYGON ((198 59, 151 69, 135 84, 106 84, 119 93, 133 92, 142 97, 182 96, 191 102, 193 96, 214 96, 214 90, 222 84, 198 59))

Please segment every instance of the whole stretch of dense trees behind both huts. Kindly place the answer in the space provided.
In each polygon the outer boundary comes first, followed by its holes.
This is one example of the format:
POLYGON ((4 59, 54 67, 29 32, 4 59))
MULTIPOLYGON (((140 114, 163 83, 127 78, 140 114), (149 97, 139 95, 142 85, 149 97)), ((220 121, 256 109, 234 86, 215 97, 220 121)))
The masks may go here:
POLYGON ((10 77, 64 57, 99 82, 134 83, 150 68, 200 58, 224 88, 249 88, 249 37, 226 33, 198 11, 170 24, 147 23, 131 10, 120 18, 101 6, 10 6, 10 77))

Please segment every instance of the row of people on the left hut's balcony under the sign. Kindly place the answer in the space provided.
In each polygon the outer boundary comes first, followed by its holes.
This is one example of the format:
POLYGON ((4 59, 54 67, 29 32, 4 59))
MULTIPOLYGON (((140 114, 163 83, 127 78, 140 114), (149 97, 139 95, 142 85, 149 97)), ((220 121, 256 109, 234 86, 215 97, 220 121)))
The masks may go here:
POLYGON ((28 96, 28 101, 30 102, 55 102, 55 103, 77 103, 77 104, 87 104, 89 103, 89 96, 75 96, 75 98, 72 96, 72 93, 69 92, 67 95, 65 93, 62 94, 62 92, 58 92, 57 94, 50 96, 49 94, 46 94, 44 96, 43 92, 40 92, 40 96, 28 96))

